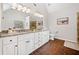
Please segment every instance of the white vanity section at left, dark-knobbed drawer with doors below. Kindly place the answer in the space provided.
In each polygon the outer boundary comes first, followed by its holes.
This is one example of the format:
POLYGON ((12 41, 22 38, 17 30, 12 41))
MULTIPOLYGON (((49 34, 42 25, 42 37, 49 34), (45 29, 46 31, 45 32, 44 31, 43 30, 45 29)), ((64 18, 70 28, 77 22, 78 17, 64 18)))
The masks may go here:
POLYGON ((17 36, 5 37, 3 40, 3 55, 17 54, 17 36))

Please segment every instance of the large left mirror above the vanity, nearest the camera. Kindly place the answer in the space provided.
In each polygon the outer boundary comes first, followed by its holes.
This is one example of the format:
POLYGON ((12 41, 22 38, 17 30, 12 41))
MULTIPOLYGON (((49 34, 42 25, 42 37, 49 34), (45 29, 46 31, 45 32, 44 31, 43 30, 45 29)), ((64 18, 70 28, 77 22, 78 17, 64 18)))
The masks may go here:
POLYGON ((9 28, 29 29, 29 15, 12 9, 12 5, 3 3, 3 20, 1 21, 2 30, 9 28))

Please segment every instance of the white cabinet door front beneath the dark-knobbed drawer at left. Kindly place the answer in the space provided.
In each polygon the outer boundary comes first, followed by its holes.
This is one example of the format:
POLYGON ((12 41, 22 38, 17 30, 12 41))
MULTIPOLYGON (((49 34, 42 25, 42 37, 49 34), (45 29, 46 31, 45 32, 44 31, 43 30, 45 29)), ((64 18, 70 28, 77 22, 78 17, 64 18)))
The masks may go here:
POLYGON ((3 55, 17 55, 17 47, 15 44, 3 46, 3 55))

